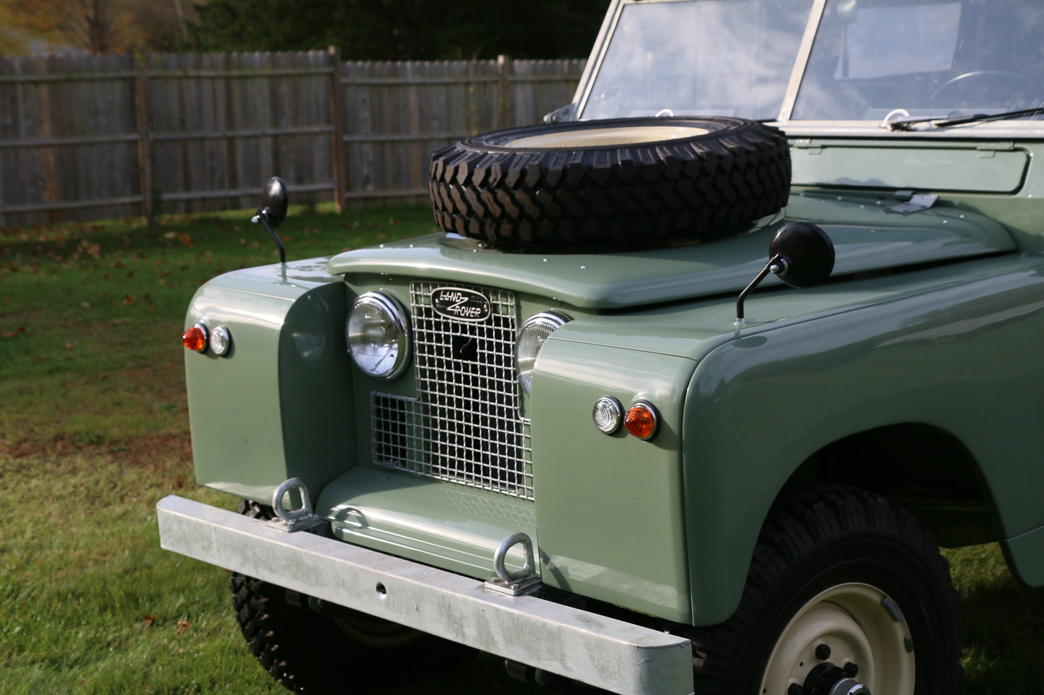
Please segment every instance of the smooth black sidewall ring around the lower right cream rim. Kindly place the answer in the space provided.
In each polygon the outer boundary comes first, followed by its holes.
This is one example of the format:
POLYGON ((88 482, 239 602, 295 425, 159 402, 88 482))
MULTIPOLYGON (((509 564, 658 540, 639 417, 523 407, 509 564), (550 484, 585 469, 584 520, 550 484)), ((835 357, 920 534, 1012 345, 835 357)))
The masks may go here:
POLYGON ((822 592, 845 584, 874 587, 899 606, 914 644, 915 692, 952 692, 949 654, 957 648, 955 626, 931 568, 899 538, 874 531, 831 538, 784 570, 748 623, 746 653, 738 663, 753 668, 737 669, 737 688, 731 692, 757 693, 776 642, 793 616, 822 592))

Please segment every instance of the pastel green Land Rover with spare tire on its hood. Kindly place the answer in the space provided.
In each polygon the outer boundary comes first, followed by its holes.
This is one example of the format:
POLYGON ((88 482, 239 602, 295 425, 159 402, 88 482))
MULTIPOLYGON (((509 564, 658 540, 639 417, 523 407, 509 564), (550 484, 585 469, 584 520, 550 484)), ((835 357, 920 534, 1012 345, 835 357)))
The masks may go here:
POLYGON ((939 546, 1044 585, 1042 114, 1030 0, 614 0, 572 103, 435 152, 443 233, 199 289, 241 503, 163 547, 300 692, 955 693, 939 546))

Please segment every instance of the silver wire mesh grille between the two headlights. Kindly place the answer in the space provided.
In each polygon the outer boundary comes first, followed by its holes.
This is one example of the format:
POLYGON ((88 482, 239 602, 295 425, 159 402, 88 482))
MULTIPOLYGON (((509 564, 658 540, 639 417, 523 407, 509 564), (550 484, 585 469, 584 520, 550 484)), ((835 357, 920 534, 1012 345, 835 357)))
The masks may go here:
POLYGON ((434 282, 412 282, 418 398, 371 394, 374 461, 383 466, 532 499, 529 425, 519 413, 515 295, 481 293, 483 322, 443 317, 434 282))

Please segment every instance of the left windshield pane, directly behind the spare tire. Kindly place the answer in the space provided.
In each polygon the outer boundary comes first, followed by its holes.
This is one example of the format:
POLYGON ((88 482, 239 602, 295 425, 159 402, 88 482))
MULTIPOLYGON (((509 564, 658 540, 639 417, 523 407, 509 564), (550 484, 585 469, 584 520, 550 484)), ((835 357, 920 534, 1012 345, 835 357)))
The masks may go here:
POLYGON ((779 116, 812 0, 625 4, 580 118, 779 116))

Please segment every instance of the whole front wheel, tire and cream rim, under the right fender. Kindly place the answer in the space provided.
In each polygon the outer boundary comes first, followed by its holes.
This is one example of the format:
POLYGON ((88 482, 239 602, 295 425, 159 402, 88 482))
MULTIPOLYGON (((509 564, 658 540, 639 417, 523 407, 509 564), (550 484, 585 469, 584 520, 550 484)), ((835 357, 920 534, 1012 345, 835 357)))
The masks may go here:
POLYGON ((832 486, 786 495, 739 610, 694 635, 696 692, 949 695, 956 607, 946 560, 901 507, 832 486))

